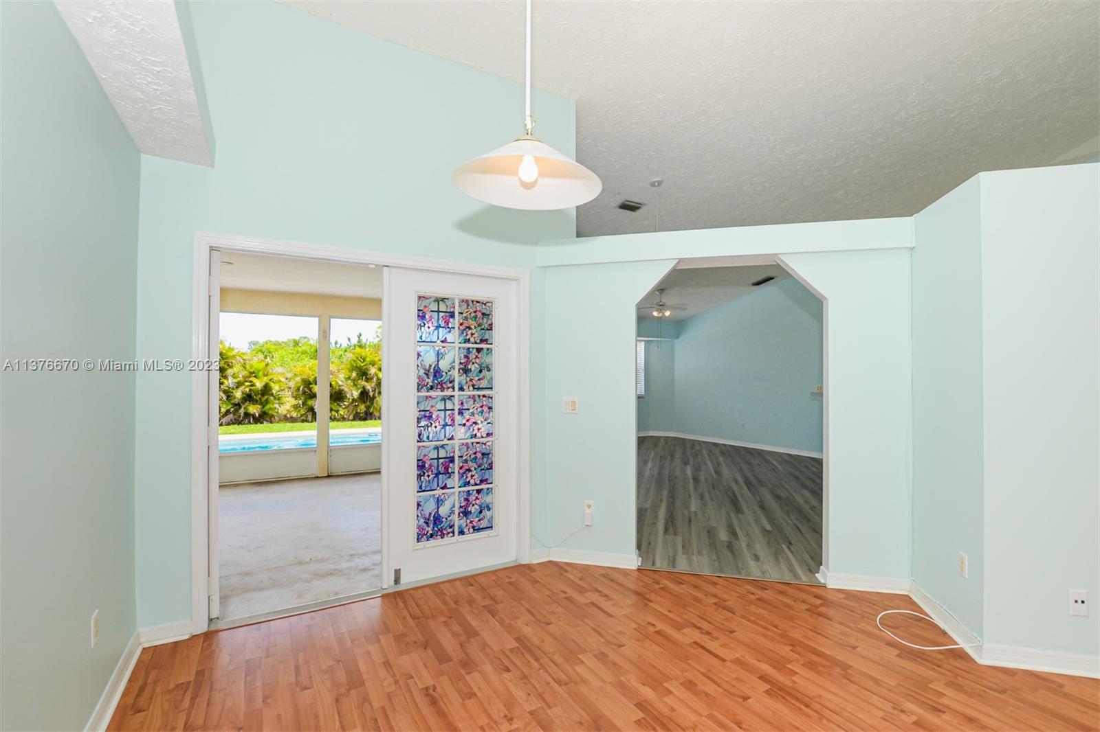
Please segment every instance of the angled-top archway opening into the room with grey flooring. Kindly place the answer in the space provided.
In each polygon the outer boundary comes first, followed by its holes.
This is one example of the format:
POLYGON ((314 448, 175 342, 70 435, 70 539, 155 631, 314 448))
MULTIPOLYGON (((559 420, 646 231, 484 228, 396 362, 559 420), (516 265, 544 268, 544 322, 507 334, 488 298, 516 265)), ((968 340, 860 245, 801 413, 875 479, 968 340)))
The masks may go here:
POLYGON ((682 263, 639 302, 639 566, 820 584, 823 329, 779 264, 682 263))

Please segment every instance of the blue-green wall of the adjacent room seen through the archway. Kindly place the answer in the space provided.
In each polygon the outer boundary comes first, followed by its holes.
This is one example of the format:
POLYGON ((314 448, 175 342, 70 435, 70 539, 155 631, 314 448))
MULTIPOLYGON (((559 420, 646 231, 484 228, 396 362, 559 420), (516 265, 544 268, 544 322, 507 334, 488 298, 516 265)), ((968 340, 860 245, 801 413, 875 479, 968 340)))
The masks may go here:
POLYGON ((679 323, 649 420, 679 432, 821 453, 822 302, 787 278, 679 323), (744 426, 743 426, 744 424, 744 426))

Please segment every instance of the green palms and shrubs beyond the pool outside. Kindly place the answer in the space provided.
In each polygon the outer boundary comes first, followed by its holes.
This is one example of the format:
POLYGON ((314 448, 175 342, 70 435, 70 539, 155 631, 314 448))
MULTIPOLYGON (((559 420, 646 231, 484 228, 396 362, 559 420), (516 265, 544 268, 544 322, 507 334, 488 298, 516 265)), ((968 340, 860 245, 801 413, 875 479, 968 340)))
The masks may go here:
MULTIPOLYGON (((220 348, 220 424, 275 424, 308 430, 317 421, 317 341, 252 341, 248 350, 220 348)), ((382 344, 333 342, 330 347, 329 419, 377 420, 382 414, 382 344)), ((336 424, 333 424, 333 428, 336 424)), ((270 431, 255 429, 249 431, 270 431)))

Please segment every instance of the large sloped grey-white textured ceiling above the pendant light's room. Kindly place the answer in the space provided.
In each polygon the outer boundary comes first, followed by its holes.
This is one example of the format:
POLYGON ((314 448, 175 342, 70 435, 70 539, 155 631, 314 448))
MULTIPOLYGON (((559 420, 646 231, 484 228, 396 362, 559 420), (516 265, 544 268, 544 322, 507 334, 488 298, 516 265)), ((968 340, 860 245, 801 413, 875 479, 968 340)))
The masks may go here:
MULTIPOLYGON (((287 4, 522 79, 522 2, 287 4)), ((910 215, 980 170, 1100 155, 1098 38, 1091 1, 536 0, 534 79, 575 98, 604 181, 581 235, 658 208, 662 231, 910 215)))

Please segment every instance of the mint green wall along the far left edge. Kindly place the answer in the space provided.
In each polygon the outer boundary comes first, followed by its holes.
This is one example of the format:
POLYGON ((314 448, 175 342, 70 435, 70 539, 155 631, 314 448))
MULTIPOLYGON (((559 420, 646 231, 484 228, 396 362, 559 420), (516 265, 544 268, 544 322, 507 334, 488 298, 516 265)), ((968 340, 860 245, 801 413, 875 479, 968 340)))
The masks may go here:
MULTIPOLYGON (((0 358, 132 359, 138 149, 53 3, 0 3, 0 358)), ((0 401, 0 728, 81 729, 136 628, 134 376, 0 401)))

